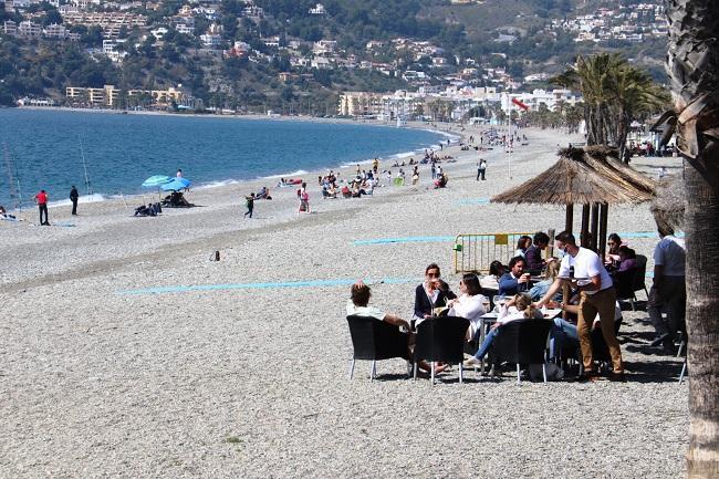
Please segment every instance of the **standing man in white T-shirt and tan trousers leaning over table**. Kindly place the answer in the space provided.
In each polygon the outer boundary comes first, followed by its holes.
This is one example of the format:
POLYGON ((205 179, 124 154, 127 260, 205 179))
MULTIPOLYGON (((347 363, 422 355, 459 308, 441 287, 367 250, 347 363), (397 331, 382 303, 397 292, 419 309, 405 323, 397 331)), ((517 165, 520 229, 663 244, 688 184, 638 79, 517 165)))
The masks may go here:
POLYGON ((592 381, 596 377, 592 357, 592 322, 598 313, 602 335, 612 356, 614 374, 609 375, 609 379, 624 381, 622 350, 614 333, 616 291, 609 273, 606 272, 602 259, 594 251, 576 246, 574 235, 571 232, 559 233, 554 246, 558 250, 565 252, 560 265, 560 273, 544 298, 535 303, 535 306, 541 308, 546 304, 565 281, 572 282, 573 288, 580 291, 576 330, 584 363, 584 375, 581 379, 592 381))

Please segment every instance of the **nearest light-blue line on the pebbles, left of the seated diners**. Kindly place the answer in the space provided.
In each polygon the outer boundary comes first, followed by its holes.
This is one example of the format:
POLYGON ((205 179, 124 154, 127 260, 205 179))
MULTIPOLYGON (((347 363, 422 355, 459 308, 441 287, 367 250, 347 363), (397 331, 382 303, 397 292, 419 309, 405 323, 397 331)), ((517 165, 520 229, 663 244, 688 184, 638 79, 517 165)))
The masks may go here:
MULTIPOLYGON (((158 287, 140 290, 121 290, 116 294, 161 294, 161 293, 187 293, 191 291, 223 291, 223 290, 262 290, 273 288, 316 288, 316 287, 341 287, 354 284, 357 280, 312 280, 312 281, 285 281, 277 283, 228 283, 228 284, 191 284, 179 287, 158 287)), ((419 278, 383 278, 381 280, 364 280, 373 284, 406 284, 420 282, 419 278)))

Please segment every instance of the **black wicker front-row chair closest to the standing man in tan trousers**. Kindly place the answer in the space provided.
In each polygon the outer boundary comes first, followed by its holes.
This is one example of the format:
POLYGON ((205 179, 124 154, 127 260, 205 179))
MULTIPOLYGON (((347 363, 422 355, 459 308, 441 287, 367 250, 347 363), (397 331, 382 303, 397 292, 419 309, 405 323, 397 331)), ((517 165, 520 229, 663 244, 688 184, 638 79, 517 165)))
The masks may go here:
POLYGON ((521 382, 521 364, 541 364, 546 383, 545 351, 551 329, 552 322, 546 320, 519 320, 500 326, 492 343, 492 364, 517 364, 517 383, 521 382))

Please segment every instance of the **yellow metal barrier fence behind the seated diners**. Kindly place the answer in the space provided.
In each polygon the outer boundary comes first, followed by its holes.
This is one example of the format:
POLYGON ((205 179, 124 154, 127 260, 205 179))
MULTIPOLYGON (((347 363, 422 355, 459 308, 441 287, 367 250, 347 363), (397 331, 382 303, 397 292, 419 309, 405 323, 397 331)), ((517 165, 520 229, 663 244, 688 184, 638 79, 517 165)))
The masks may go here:
POLYGON ((507 262, 514 256, 517 241, 530 232, 496 232, 481 235, 459 235, 455 240, 455 273, 489 272, 489 264, 494 260, 507 262))

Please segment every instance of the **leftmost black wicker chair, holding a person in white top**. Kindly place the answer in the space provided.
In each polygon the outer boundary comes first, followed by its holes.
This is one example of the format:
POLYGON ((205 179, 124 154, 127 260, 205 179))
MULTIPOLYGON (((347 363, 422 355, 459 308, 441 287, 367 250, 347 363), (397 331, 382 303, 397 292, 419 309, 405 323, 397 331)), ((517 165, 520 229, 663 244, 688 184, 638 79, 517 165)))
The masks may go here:
POLYGON ((354 353, 350 366, 350 378, 354 375, 356 360, 372 361, 371 381, 377 374, 377 361, 393 357, 407 358, 407 334, 384 321, 367 316, 347 316, 354 353))

